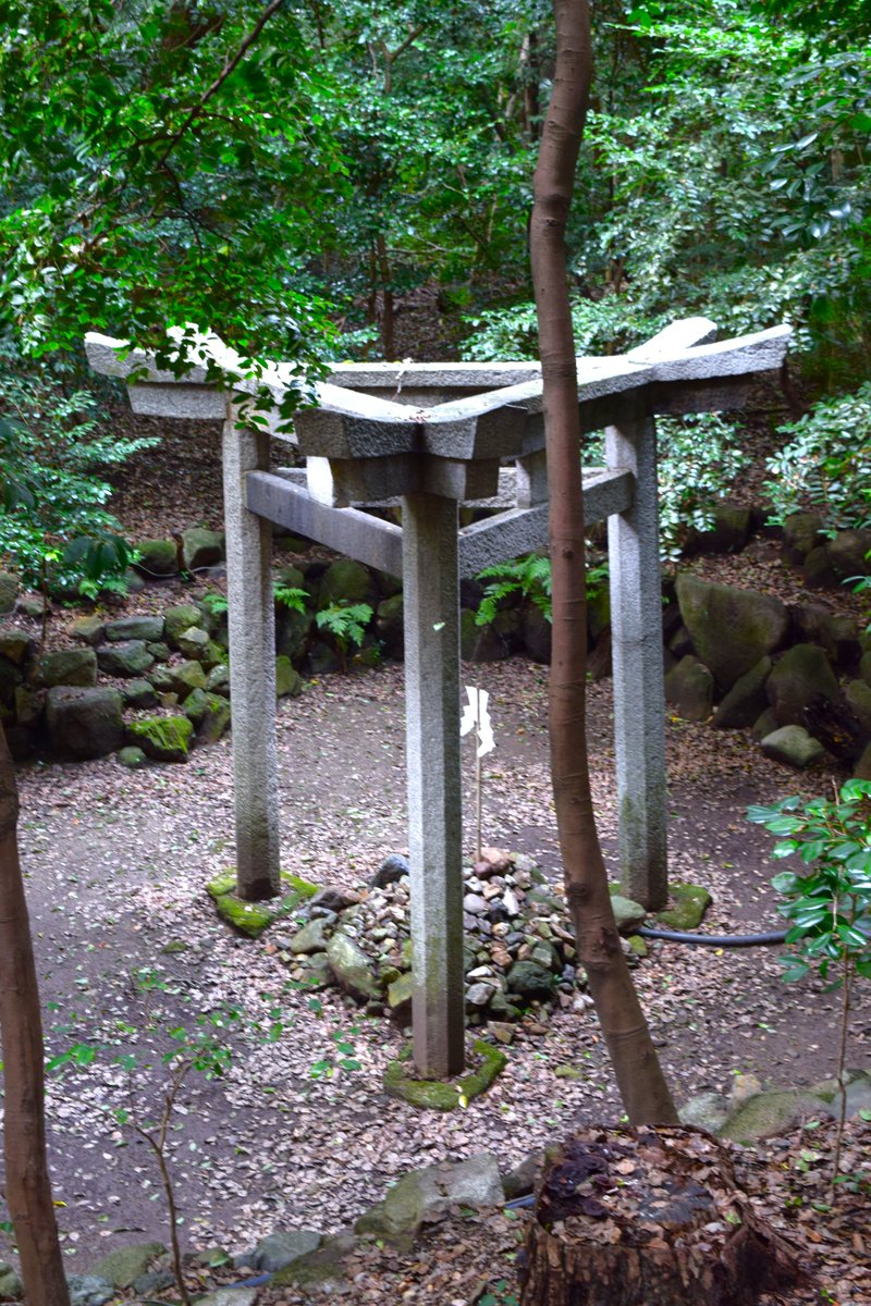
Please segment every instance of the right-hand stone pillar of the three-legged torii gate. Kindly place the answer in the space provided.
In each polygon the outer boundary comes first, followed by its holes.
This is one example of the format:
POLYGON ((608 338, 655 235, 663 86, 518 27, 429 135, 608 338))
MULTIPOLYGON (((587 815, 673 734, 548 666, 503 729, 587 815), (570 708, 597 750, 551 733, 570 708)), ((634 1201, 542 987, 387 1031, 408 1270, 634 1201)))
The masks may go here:
POLYGON ((632 505, 609 517, 620 876, 629 897, 656 910, 669 896, 669 863, 653 418, 607 427, 605 448, 609 468, 635 475, 632 505))

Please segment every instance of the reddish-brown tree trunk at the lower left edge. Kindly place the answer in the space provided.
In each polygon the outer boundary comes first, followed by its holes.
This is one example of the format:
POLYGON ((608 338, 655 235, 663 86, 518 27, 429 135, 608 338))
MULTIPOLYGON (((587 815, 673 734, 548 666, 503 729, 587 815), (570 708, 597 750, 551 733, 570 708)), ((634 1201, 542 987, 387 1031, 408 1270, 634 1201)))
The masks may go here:
POLYGON ((69 1306, 46 1160, 42 1017, 17 821, 14 768, 0 729, 0 1038, 7 1205, 27 1306, 69 1306))

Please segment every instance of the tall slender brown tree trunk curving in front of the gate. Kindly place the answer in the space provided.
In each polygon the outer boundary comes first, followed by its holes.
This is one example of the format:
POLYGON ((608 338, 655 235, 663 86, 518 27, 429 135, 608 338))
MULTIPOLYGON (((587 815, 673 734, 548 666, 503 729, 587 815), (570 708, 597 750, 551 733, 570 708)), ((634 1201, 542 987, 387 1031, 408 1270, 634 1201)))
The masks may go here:
POLYGON ((588 0, 554 0, 556 74, 534 176, 530 248, 545 385, 552 567, 551 773, 580 960, 632 1124, 678 1123, 614 923, 586 754, 586 598, 577 364, 565 222, 592 76, 588 0))

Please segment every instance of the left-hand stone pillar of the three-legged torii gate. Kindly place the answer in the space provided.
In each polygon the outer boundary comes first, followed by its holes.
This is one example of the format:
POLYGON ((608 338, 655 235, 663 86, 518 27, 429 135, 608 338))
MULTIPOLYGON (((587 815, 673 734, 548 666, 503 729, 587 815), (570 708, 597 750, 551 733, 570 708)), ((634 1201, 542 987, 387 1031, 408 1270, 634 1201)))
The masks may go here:
POLYGON ((276 607, 272 525, 245 507, 245 474, 269 469, 269 436, 223 423, 223 517, 236 814, 236 884, 248 901, 279 888, 276 607))

